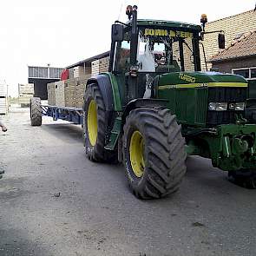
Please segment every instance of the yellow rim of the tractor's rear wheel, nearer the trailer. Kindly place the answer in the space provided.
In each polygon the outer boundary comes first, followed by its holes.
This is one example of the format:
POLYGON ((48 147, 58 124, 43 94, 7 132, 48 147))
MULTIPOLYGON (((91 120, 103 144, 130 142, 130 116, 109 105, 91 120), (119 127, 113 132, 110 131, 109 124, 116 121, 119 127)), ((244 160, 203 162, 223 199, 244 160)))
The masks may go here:
POLYGON ((97 121, 97 104, 95 100, 89 102, 87 114, 87 128, 89 141, 92 146, 95 146, 98 134, 98 121, 97 121))

